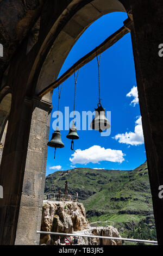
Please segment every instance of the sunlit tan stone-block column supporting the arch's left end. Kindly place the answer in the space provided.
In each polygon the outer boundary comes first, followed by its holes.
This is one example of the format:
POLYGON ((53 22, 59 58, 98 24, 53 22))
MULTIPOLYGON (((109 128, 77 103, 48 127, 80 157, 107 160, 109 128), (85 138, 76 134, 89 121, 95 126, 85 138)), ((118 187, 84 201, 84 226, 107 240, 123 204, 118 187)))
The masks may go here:
POLYGON ((9 118, 0 170, 1 245, 37 245, 40 237, 51 103, 34 98, 20 106, 9 118))

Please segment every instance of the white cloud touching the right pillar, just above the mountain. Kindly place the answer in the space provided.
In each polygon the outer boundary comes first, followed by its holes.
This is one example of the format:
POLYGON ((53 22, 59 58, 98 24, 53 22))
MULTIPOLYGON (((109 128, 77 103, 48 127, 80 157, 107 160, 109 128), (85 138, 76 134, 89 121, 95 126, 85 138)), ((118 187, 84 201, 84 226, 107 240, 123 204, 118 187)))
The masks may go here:
POLYGON ((125 143, 129 145, 141 145, 144 143, 144 136, 142 130, 141 117, 139 117, 135 121, 135 131, 134 132, 126 132, 122 134, 117 134, 113 137, 120 143, 125 143))

